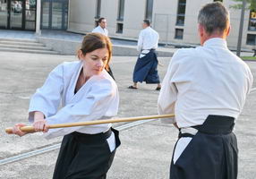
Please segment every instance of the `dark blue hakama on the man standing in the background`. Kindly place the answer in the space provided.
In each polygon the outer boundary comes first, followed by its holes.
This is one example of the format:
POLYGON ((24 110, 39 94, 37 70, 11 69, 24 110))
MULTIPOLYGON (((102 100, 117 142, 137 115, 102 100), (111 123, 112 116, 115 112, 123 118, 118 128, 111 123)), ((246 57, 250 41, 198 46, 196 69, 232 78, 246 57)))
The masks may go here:
POLYGON ((151 49, 145 56, 138 57, 133 71, 133 82, 160 83, 158 76, 158 56, 151 49))

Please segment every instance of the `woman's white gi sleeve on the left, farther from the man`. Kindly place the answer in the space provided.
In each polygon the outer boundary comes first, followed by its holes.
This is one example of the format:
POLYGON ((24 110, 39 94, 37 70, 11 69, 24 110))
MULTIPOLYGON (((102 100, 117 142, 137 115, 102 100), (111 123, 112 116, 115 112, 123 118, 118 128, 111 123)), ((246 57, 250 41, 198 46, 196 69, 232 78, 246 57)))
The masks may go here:
POLYGON ((40 111, 47 118, 55 115, 64 90, 63 64, 59 64, 49 73, 44 85, 30 99, 29 121, 33 123, 34 112, 40 111))

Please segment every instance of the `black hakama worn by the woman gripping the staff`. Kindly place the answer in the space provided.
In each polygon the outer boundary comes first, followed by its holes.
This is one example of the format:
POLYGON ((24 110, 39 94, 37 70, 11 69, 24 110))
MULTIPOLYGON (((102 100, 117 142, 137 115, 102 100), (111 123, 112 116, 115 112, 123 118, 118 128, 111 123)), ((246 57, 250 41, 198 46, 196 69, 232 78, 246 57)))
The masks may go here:
POLYGON ((118 131, 85 134, 73 132, 64 136, 53 179, 105 179, 115 150, 110 151, 107 138, 114 132, 115 149, 120 145, 118 131))

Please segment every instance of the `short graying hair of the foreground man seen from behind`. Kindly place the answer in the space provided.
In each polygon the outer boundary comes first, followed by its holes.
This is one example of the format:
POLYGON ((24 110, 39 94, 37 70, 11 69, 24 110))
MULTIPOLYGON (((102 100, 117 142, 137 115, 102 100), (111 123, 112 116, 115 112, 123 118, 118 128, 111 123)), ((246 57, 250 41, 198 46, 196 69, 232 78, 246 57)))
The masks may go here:
POLYGON ((209 35, 213 32, 223 32, 229 23, 229 12, 222 3, 209 3, 201 8, 198 22, 209 35))

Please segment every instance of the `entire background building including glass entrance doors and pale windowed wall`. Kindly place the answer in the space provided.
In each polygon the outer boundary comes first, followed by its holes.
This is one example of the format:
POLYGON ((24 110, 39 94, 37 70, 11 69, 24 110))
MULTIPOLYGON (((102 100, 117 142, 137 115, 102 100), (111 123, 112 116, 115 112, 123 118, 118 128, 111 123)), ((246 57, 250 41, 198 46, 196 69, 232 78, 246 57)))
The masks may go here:
MULTIPOLYGON (((199 44, 197 15, 201 6, 216 0, 0 0, 0 29, 67 30, 88 33, 98 18, 107 19, 113 38, 137 39, 141 22, 149 19, 164 44, 199 44)), ((233 0, 222 0, 230 11, 229 47, 236 47, 241 10, 230 8, 233 0)), ((256 46, 256 10, 246 10, 242 48, 256 46)))

